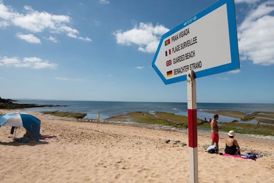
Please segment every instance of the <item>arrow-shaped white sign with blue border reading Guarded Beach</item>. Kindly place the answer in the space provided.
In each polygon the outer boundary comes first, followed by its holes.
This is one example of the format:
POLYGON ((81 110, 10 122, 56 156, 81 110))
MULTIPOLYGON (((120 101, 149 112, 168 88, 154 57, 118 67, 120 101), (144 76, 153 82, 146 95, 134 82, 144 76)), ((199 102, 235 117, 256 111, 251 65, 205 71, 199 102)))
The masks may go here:
POLYGON ((233 0, 221 0, 165 33, 152 67, 165 84, 239 69, 233 0))

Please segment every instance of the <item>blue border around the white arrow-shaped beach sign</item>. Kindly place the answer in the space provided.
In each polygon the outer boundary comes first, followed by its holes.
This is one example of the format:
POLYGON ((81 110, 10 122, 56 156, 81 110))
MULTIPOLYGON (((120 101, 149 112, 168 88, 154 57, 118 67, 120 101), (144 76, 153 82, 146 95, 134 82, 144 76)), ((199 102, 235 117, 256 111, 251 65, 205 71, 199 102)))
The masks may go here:
POLYGON ((217 74, 217 73, 222 73, 222 72, 227 72, 235 69, 239 69, 239 53, 238 53, 238 41, 237 41, 237 28, 236 28, 236 19, 235 19, 235 7, 234 7, 234 1, 233 0, 220 0, 217 3, 213 4, 212 6, 208 7, 207 9, 201 11, 200 13, 194 15, 184 23, 181 23, 180 25, 176 26, 174 29, 168 31, 165 33, 158 45, 157 51, 154 55, 153 62, 152 62, 152 67, 156 71, 156 73, 160 76, 160 78, 163 80, 165 84, 172 84, 180 81, 185 81, 187 80, 186 75, 171 78, 171 79, 165 79, 165 77, 162 75, 160 70, 155 66, 155 61, 158 56, 159 50, 161 48, 161 45, 163 43, 163 40, 170 35, 173 35, 174 33, 180 31, 183 29, 185 26, 188 26, 189 24, 199 20, 203 16, 211 13, 212 11, 216 10, 217 8, 223 6, 226 4, 227 7, 227 18, 228 18, 228 32, 229 32, 229 41, 230 41, 230 55, 231 55, 231 63, 225 64, 222 66, 217 66, 214 68, 210 69, 205 69, 202 71, 197 71, 194 73, 194 77, 203 77, 203 76, 208 76, 212 74, 217 74))

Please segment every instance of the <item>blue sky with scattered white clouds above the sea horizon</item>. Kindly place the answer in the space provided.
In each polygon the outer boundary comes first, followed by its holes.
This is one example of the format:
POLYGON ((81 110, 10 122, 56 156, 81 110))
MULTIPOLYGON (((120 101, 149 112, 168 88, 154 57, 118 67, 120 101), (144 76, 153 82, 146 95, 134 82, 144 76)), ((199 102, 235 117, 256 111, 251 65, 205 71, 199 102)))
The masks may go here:
MULTIPOLYGON (((216 0, 0 0, 0 96, 187 102, 151 67, 161 36, 216 0)), ((274 103, 274 1, 235 0, 241 69, 196 79, 197 102, 274 103)))

